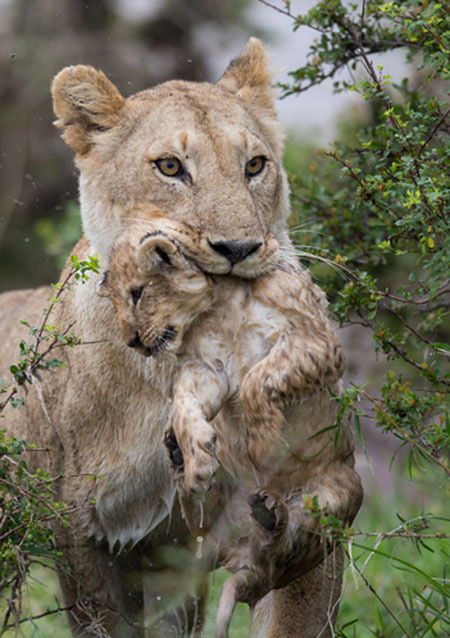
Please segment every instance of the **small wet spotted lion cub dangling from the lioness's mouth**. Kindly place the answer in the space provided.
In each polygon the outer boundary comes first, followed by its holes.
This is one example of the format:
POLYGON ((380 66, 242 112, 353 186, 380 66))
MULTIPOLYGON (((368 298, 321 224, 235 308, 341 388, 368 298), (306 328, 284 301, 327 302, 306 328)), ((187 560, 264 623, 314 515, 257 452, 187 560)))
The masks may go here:
POLYGON ((100 294, 130 347, 177 355, 166 444, 188 526, 235 572, 217 616, 216 635, 226 636, 236 602, 253 606, 323 559, 314 508, 351 522, 362 491, 348 421, 327 389, 338 391, 344 362, 322 291, 299 265, 280 262, 256 280, 213 277, 195 254, 180 224, 130 227, 100 294), (211 518, 208 495, 204 518, 193 493, 219 467, 226 476, 214 489, 227 497, 211 518))

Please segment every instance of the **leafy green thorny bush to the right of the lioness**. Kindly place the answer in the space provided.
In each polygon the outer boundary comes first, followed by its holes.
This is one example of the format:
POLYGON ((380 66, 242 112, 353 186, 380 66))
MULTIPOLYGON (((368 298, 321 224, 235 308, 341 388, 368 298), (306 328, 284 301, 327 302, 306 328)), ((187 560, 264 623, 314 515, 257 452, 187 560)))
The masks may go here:
POLYGON ((417 511, 404 494, 397 499, 402 511, 416 511, 396 522, 385 513, 381 525, 392 527, 339 531, 330 521, 377 608, 370 621, 357 622, 359 610, 350 611, 347 602, 337 635, 443 636, 450 621, 449 556, 442 546, 449 519, 440 511, 450 474, 450 9, 419 0, 323 0, 305 15, 294 15, 289 1, 278 10, 292 19, 294 31, 318 34, 306 64, 280 85, 283 95, 333 78, 335 91, 356 92, 368 106, 365 125, 317 151, 309 171, 290 176, 300 258, 328 292, 340 325, 364 326, 388 361, 378 391, 350 385, 340 401, 354 412, 364 449, 363 430, 375 427, 407 450, 416 494, 430 477, 435 482, 434 511, 417 511), (374 53, 393 49, 417 65, 414 79, 394 84, 374 62, 374 53), (358 79, 338 79, 344 67, 358 79), (430 552, 437 559, 422 560, 430 552), (398 592, 367 577, 374 556, 386 583, 388 574, 402 570, 398 592))

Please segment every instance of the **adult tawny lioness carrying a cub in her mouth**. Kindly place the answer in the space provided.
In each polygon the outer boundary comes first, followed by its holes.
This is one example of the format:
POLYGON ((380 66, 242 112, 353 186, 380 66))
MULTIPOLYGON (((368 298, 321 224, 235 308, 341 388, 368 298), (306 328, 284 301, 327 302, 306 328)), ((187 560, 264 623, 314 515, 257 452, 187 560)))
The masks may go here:
MULTIPOLYGON (((198 233, 205 272, 264 274, 271 238, 283 258, 295 258, 282 136, 259 41, 251 39, 216 84, 172 81, 124 98, 102 72, 74 66, 56 76, 52 93, 80 172, 80 259, 98 253, 107 269, 114 240, 152 205, 198 233)), ((145 635, 143 609, 157 635, 200 630, 202 583, 190 587, 192 570, 167 567, 159 552, 187 534, 162 442, 174 368, 170 356, 144 359, 123 343, 98 281, 66 291, 52 319, 74 323, 90 345, 67 351, 67 367, 43 373, 39 392, 28 394, 26 414, 10 410, 5 422, 49 450, 47 465, 64 477, 56 497, 79 505, 70 529, 58 530, 73 569, 60 580, 74 635, 145 635), (183 612, 165 613, 174 599, 183 612)), ((46 295, 1 297, 0 377, 27 338, 18 320, 38 325, 46 295)), ((316 635, 339 595, 330 564, 329 578, 320 566, 260 601, 254 635, 316 635)))

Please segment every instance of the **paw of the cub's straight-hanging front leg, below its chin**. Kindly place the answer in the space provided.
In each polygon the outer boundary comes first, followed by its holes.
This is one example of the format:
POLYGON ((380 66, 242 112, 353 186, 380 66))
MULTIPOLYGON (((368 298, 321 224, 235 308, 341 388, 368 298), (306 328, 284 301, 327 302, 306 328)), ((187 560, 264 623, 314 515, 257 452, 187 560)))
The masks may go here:
POLYGON ((211 487, 219 467, 216 441, 217 435, 209 425, 192 437, 190 449, 184 454, 184 482, 188 491, 201 495, 211 487))

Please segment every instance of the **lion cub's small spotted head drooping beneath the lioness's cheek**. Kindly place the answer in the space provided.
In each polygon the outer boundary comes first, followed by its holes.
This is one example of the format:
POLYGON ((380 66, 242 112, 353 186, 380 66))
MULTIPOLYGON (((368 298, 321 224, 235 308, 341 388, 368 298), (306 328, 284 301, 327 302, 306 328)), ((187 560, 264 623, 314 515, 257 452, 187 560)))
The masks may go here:
POLYGON ((195 243, 182 225, 128 227, 115 241, 98 292, 115 306, 125 343, 144 356, 178 352, 212 303, 212 284, 185 254, 195 243))

